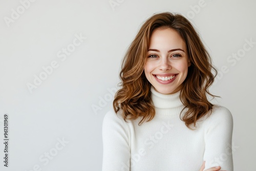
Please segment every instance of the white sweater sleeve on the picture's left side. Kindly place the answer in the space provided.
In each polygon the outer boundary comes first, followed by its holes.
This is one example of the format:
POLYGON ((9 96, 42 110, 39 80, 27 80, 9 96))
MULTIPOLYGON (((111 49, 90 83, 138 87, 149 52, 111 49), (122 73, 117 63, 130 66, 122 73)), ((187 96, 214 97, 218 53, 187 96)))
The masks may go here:
POLYGON ((114 111, 106 113, 102 124, 102 171, 130 170, 130 142, 127 123, 114 111))

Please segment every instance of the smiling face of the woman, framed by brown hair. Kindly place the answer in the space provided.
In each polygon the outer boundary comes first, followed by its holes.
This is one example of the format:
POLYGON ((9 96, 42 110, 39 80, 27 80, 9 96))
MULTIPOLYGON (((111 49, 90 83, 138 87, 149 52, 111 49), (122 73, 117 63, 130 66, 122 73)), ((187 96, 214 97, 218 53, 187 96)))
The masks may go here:
POLYGON ((156 29, 144 67, 146 78, 155 90, 162 94, 178 92, 189 66, 186 44, 180 35, 173 29, 156 29))

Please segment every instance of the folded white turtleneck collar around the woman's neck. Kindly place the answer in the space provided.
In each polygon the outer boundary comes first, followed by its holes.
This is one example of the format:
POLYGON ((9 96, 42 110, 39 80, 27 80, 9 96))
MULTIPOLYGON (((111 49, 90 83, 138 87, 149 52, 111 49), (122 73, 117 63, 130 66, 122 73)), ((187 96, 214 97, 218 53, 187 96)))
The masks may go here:
POLYGON ((176 115, 184 108, 180 100, 180 91, 174 94, 161 94, 151 86, 151 98, 154 103, 156 114, 176 115))

